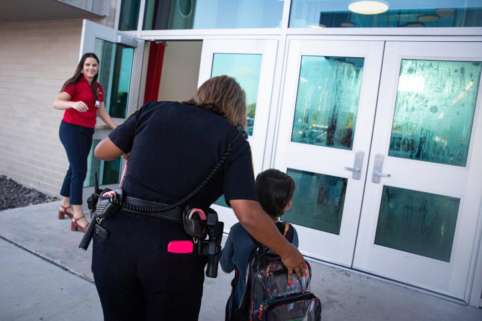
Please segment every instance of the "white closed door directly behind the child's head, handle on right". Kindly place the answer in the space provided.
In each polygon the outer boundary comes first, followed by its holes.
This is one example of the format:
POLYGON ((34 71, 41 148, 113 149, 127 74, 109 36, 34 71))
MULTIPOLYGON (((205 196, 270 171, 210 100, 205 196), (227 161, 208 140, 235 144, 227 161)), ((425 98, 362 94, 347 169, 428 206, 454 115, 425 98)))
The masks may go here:
POLYGON ((351 266, 383 42, 289 40, 275 168, 296 190, 284 220, 300 249, 351 266))

